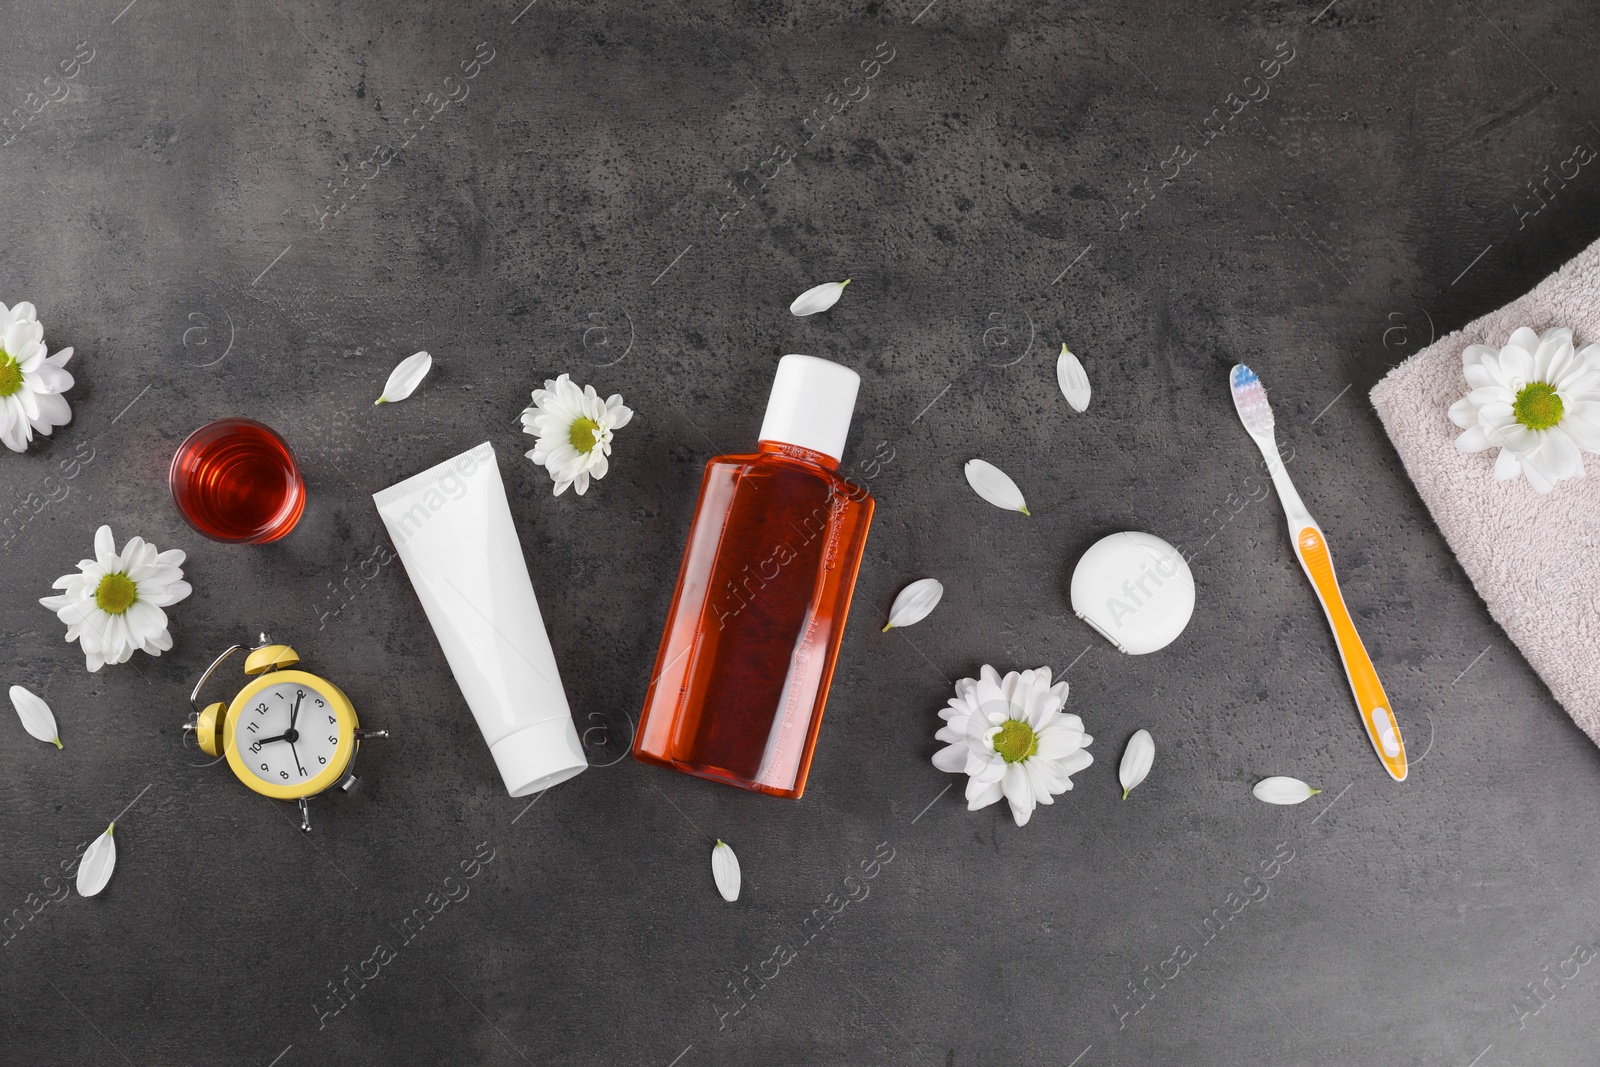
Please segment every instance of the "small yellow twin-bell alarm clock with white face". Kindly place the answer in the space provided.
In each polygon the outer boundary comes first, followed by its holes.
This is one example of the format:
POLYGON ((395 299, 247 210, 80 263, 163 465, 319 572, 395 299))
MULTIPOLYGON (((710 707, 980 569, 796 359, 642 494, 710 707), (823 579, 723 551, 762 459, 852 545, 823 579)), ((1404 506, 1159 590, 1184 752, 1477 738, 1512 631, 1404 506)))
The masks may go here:
POLYGON ((368 737, 387 737, 387 729, 362 729, 355 705, 339 686, 306 670, 291 670, 299 656, 288 645, 274 645, 266 633, 245 657, 245 673, 254 675, 226 707, 200 707, 200 689, 224 659, 245 648, 234 645, 200 675, 189 704, 194 713, 184 731, 195 734, 206 755, 227 757, 234 774, 250 789, 274 800, 299 805, 301 829, 310 832, 306 801, 334 785, 355 787, 355 753, 368 737))

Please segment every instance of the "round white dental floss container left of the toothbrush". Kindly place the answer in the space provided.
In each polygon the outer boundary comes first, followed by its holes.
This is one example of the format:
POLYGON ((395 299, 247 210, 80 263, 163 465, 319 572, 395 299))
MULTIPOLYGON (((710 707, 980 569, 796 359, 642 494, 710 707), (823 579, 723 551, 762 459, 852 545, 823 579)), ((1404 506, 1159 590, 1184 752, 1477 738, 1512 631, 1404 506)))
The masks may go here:
POLYGON ((1130 656, 1166 648, 1195 611, 1195 579, 1173 545, 1128 530, 1096 541, 1072 571, 1072 609, 1130 656))

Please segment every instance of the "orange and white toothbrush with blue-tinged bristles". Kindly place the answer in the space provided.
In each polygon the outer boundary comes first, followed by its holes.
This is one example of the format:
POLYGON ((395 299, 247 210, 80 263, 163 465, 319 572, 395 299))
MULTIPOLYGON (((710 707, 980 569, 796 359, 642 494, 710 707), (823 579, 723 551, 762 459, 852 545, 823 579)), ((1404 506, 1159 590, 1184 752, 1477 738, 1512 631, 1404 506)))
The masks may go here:
POLYGON ((1373 750, 1382 761, 1389 777, 1403 782, 1406 776, 1405 742, 1400 741, 1400 725, 1394 712, 1389 710, 1389 697, 1378 680, 1378 670, 1362 645, 1362 635, 1355 632, 1355 621, 1350 609, 1344 606, 1344 595, 1339 592, 1339 579, 1333 573, 1333 557, 1328 555, 1328 541, 1322 526, 1306 510, 1290 472, 1278 456, 1278 443, 1272 437, 1272 408, 1267 405, 1267 390, 1256 373, 1238 363, 1227 379, 1234 390, 1234 408, 1238 410, 1238 421, 1261 448, 1261 456, 1267 461, 1272 474, 1272 485, 1283 501, 1283 512, 1290 520, 1290 536, 1294 539, 1294 555, 1299 557, 1306 577, 1310 579, 1317 598, 1322 601, 1328 625, 1333 627, 1333 640, 1339 645, 1339 657, 1344 661, 1344 677, 1350 680, 1350 693, 1355 694, 1355 705, 1362 713, 1362 726, 1373 742, 1373 750))

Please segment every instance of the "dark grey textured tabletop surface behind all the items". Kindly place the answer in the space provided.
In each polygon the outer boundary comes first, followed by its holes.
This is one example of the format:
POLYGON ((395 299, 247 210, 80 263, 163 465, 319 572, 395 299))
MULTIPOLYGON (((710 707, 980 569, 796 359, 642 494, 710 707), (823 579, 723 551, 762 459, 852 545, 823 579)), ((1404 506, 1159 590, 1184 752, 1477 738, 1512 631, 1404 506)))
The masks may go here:
POLYGON ((5 909, 118 811, 122 857, 8 933, 0 1061, 1592 1062, 1600 753, 1365 402, 1600 230, 1592 168, 1528 184, 1600 146, 1592 5, 123 3, 16 5, 3 50, 22 115, 80 58, 0 150, 0 299, 38 306, 78 382, 72 426, 0 456, 0 681, 66 739, 0 728, 5 909), (787 314, 843 277, 832 312, 787 314), (418 349, 419 394, 373 408, 418 349), (752 445, 784 352, 861 371, 846 466, 878 501, 798 803, 624 755, 701 466, 752 445), (1403 785, 1277 501, 1240 506, 1240 358, 1395 702, 1403 785), (638 413, 584 498, 522 458, 517 414, 562 371, 638 413), (280 429, 310 486, 269 547, 206 542, 166 496, 178 442, 230 414, 280 429), (370 563, 370 494, 485 438, 595 763, 533 806, 402 569, 370 563), (966 488, 973 456, 1032 518, 966 488), (102 522, 186 549, 195 593, 168 654, 88 675, 37 598, 102 522), (1197 616, 1142 659, 1067 606, 1120 528, 1195 553, 1197 616), (928 574, 944 605, 878 633, 928 574), (179 731, 198 670, 262 627, 394 733, 309 837, 179 731), (1070 665, 1096 736, 1022 829, 930 765, 986 662, 1070 665), (1139 726, 1155 771, 1122 803, 1139 726), (1272 773, 1326 792, 1256 803, 1272 773))

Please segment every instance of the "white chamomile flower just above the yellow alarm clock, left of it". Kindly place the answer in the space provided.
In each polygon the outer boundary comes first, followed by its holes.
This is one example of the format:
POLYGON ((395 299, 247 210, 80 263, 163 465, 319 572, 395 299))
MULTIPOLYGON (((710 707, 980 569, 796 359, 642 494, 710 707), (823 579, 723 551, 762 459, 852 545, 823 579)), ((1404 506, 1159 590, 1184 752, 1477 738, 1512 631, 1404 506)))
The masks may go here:
POLYGON ((128 662, 136 648, 160 656, 173 646, 162 608, 190 592, 184 558, 178 549, 157 552, 144 537, 131 537, 118 553, 110 526, 101 526, 94 558, 80 560, 77 574, 56 579, 54 587, 66 592, 38 603, 67 624, 67 640, 78 641, 91 672, 128 662))

